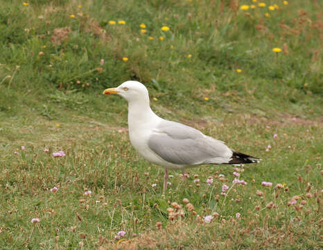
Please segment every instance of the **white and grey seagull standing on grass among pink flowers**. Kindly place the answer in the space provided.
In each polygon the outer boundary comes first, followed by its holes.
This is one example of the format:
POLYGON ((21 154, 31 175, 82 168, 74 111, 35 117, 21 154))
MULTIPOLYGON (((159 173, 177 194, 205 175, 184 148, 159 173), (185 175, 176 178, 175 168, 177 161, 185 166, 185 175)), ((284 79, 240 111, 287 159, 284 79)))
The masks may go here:
POLYGON ((145 85, 125 81, 103 94, 119 94, 128 101, 129 137, 134 149, 150 163, 164 167, 164 191, 167 189, 168 169, 195 165, 259 163, 260 159, 227 147, 225 142, 204 135, 195 128, 171 122, 156 115, 150 108, 145 85))

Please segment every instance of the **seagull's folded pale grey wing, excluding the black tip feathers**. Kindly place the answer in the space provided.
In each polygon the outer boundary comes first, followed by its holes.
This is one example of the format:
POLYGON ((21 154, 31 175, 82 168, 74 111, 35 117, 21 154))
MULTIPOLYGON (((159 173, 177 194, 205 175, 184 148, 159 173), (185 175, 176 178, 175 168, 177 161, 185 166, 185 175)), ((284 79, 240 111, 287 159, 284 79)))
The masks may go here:
POLYGON ((232 159, 232 150, 224 142, 167 120, 154 129, 148 147, 162 159, 178 165, 221 164, 232 159))

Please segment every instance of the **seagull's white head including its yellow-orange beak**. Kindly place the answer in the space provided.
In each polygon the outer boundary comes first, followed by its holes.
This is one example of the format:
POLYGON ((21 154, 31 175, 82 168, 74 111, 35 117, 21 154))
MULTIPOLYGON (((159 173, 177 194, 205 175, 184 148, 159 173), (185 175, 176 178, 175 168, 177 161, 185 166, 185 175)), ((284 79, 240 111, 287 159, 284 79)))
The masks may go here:
POLYGON ((108 88, 103 94, 119 94, 128 102, 147 100, 149 103, 148 90, 142 83, 138 81, 125 81, 116 88, 108 88))

